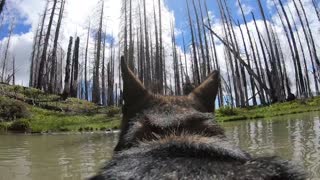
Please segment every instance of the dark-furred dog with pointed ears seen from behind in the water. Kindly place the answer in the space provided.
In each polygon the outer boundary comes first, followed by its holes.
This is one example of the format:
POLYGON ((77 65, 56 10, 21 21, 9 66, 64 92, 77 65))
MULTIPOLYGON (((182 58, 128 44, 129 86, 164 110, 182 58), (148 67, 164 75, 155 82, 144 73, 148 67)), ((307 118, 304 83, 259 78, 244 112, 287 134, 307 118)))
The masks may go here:
POLYGON ((277 157, 254 158, 234 146, 214 120, 220 86, 214 71, 188 96, 154 95, 123 58, 123 120, 114 156, 93 180, 305 179, 277 157))

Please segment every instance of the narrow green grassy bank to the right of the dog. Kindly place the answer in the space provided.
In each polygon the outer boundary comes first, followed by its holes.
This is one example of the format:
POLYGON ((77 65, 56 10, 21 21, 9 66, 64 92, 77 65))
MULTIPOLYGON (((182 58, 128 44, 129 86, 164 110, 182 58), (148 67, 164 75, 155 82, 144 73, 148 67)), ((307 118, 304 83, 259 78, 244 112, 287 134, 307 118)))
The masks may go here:
POLYGON ((287 114, 320 111, 320 97, 292 102, 276 103, 264 107, 222 108, 216 111, 218 121, 238 121, 268 118, 287 114))

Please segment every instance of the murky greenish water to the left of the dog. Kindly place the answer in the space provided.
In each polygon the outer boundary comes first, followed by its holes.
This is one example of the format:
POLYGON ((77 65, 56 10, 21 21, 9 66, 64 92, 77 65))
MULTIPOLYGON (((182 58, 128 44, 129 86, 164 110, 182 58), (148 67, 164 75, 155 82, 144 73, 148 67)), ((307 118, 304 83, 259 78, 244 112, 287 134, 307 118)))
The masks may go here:
POLYGON ((85 179, 112 156, 117 135, 1 135, 0 179, 85 179))

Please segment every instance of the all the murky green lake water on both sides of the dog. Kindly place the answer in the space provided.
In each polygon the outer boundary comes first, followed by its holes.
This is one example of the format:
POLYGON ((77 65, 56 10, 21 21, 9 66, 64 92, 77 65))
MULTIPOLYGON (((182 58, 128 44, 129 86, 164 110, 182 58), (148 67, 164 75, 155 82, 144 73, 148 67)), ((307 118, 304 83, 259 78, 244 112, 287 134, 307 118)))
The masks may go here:
MULTIPOLYGON (((277 155, 320 179, 320 112, 223 123, 253 155, 277 155)), ((0 180, 85 179, 112 156, 117 134, 0 135, 0 180)))

